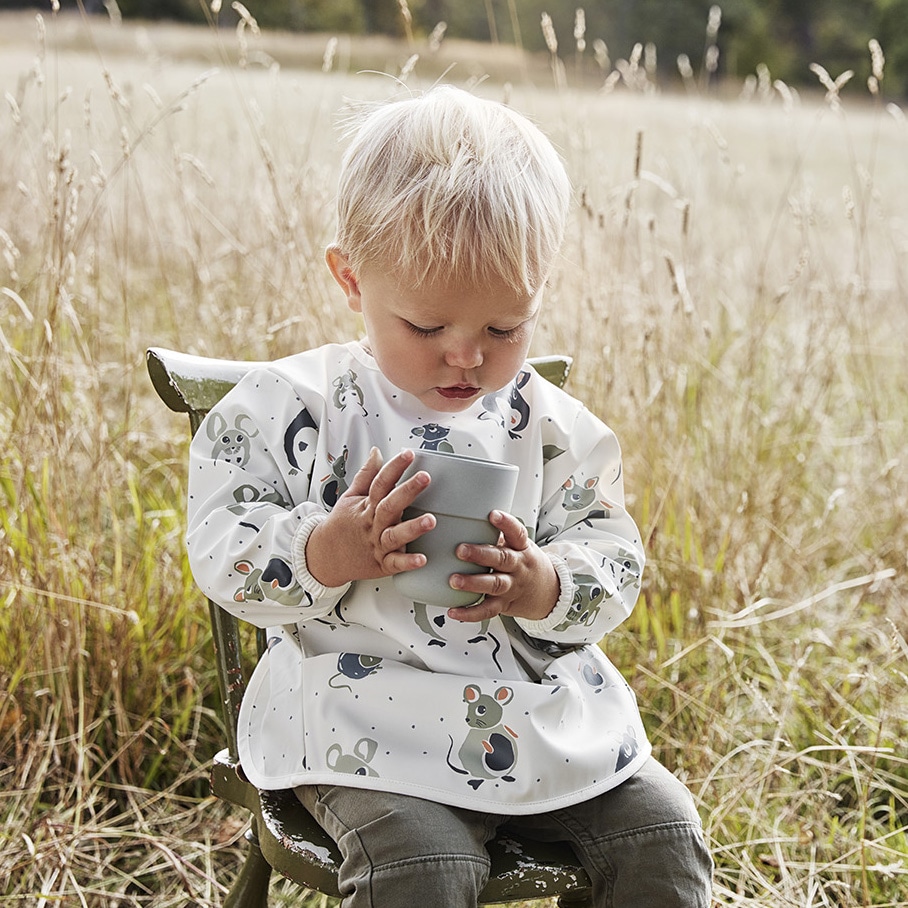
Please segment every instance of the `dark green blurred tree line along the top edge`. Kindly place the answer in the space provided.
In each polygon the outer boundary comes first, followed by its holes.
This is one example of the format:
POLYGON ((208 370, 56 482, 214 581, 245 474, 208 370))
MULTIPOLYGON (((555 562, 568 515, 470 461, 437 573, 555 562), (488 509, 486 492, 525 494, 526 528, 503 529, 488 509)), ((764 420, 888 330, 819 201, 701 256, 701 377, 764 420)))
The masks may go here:
MULTIPOLYGON (((75 2, 64 0, 63 5, 75 2)), ((90 2, 98 7, 103 0, 90 2)), ((206 18, 202 0, 117 2, 124 17, 206 18)), ((444 22, 448 37, 498 41, 543 52, 547 48, 540 22, 545 13, 551 17, 558 53, 565 60, 577 51, 577 9, 582 7, 586 54, 592 55, 594 42, 604 42, 611 60, 627 59, 635 44, 651 44, 656 49, 660 75, 666 78, 677 76, 680 55, 686 55, 699 68, 708 45, 715 44, 720 75, 741 79, 765 64, 773 78, 791 85, 815 84, 809 66, 820 63, 833 77, 852 69, 863 80, 871 69, 868 42, 875 38, 886 57, 884 94, 908 95, 908 0, 721 0, 717 4, 721 24, 715 36, 707 34, 713 6, 710 0, 245 2, 265 28, 418 39, 444 22)), ((12 5, 21 4, 0 0, 0 8, 12 5)), ((236 14, 229 0, 222 5, 220 21, 231 24, 236 14)), ((601 52, 602 44, 597 46, 601 52)))

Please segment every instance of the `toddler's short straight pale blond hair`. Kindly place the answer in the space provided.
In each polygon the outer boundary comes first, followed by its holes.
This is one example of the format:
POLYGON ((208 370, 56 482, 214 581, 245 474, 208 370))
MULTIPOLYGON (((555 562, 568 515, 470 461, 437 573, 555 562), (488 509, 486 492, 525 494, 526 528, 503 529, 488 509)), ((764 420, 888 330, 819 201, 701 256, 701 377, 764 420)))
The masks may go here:
POLYGON ((570 183, 549 140, 503 104, 437 86, 348 123, 336 243, 354 271, 399 269, 545 282, 564 237, 570 183))

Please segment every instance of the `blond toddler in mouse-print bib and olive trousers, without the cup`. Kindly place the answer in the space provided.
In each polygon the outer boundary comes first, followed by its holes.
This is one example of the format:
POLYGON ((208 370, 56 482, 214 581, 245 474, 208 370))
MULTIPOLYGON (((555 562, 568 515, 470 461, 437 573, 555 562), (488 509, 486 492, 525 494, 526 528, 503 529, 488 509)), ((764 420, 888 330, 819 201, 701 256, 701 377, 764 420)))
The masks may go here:
POLYGON ((472 908, 502 826, 569 842, 602 908, 709 904, 693 800, 597 646, 644 561, 618 442, 526 362, 569 197, 504 105, 439 86, 361 114, 326 258, 365 339, 248 375, 192 444, 194 575, 268 628, 243 770, 337 841, 346 908, 472 908), (457 552, 478 605, 395 588, 435 526, 404 517, 414 448, 520 468, 498 544, 457 552))

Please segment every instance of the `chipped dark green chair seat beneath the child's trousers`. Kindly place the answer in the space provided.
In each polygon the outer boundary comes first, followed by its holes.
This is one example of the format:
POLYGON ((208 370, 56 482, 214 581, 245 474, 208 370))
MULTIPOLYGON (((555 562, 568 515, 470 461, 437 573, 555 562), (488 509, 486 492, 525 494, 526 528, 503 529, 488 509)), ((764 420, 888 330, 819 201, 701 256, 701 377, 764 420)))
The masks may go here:
MULTIPOLYGON (((226 750, 214 758, 211 787, 219 798, 254 814, 259 847, 275 870, 309 889, 340 896, 340 852, 292 791, 259 791, 242 777, 226 750)), ((492 873, 481 904, 589 890, 589 877, 567 845, 503 833, 489 843, 489 855, 492 873)))

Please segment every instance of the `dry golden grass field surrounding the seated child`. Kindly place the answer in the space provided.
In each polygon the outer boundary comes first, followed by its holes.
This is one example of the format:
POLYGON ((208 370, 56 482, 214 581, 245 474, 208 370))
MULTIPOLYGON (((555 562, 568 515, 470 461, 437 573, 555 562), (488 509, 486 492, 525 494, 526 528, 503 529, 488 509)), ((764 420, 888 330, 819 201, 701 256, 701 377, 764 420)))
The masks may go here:
POLYGON ((242 37, 0 16, 0 901, 221 903, 242 825, 207 796, 186 426, 144 351, 355 334, 322 264, 338 114, 453 65, 574 179, 534 352, 571 353, 622 440, 650 560, 603 646, 697 798, 716 904, 908 906, 908 126, 885 77, 719 97, 633 61, 604 88, 570 49, 561 71, 242 37))

